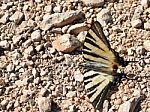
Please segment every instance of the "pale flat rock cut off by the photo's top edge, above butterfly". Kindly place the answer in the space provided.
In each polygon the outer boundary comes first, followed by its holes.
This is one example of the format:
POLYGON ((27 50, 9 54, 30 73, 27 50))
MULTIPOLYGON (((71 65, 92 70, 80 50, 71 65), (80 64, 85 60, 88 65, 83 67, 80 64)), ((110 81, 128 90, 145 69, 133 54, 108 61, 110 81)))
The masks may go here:
POLYGON ((104 5, 104 0, 82 0, 87 6, 99 7, 104 5))

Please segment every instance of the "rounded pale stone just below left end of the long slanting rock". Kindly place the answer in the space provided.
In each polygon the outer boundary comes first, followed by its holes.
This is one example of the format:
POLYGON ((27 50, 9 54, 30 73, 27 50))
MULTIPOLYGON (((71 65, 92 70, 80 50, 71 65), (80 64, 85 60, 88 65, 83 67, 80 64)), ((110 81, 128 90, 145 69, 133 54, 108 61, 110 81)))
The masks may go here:
POLYGON ((41 41, 41 31, 40 30, 35 30, 34 32, 32 32, 31 39, 34 42, 41 41))

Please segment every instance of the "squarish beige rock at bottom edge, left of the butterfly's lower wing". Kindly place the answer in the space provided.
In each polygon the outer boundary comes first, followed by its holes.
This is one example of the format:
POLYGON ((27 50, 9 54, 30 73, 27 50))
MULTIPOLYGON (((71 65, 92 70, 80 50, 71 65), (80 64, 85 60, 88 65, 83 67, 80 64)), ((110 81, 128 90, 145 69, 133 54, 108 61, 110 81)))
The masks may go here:
POLYGON ((39 97, 38 106, 40 112, 51 112, 51 99, 46 97, 39 97))

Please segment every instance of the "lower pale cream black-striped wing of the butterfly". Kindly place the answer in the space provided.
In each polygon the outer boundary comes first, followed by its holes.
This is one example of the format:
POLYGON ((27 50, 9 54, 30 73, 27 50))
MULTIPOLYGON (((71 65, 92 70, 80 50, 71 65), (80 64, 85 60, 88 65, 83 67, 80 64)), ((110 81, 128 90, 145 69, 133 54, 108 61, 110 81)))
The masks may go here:
POLYGON ((87 96, 92 105, 100 110, 114 77, 103 72, 88 71, 84 74, 87 96))

